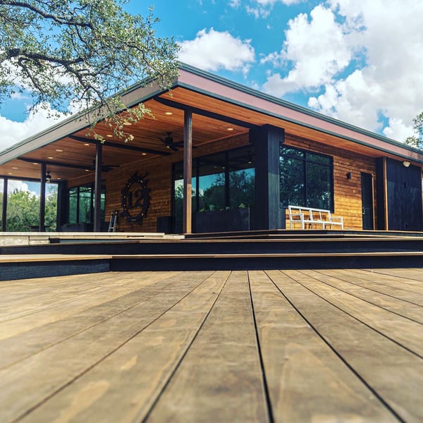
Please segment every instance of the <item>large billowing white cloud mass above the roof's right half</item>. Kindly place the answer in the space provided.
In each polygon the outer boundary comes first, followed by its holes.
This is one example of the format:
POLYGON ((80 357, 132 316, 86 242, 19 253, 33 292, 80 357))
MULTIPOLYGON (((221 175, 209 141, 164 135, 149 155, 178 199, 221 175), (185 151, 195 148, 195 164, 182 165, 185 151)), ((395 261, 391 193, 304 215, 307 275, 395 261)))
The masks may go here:
POLYGON ((310 107, 404 140, 423 109, 423 3, 327 4, 311 19, 290 20, 283 49, 262 59, 273 65, 264 90, 278 96, 307 90, 310 107))

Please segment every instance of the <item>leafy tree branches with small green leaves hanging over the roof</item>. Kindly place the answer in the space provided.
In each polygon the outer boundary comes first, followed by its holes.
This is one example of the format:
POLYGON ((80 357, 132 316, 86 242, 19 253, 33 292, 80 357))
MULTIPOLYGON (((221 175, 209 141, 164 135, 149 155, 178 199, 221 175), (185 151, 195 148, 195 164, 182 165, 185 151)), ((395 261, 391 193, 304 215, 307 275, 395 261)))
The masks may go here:
POLYGON ((137 121, 146 110, 129 111, 111 94, 148 78, 168 86, 177 75, 178 46, 157 37, 152 8, 144 18, 126 12, 125 3, 0 0, 0 104, 16 92, 61 112, 73 102, 97 111, 91 123, 106 116, 115 135, 130 139, 123 119, 137 121))

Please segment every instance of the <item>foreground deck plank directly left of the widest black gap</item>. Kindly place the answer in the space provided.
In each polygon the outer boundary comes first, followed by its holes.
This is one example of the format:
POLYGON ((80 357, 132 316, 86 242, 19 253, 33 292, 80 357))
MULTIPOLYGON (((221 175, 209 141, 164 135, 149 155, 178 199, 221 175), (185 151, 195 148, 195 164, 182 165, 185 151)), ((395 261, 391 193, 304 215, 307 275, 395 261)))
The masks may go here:
POLYGON ((247 272, 233 272, 149 422, 266 422, 247 272))

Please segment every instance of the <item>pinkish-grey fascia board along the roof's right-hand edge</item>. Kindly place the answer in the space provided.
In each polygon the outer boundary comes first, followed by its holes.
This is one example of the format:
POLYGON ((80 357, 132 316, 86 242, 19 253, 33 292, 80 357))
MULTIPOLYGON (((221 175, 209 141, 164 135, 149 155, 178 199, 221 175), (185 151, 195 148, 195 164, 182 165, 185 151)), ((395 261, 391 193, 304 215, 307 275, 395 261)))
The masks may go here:
POLYGON ((200 94, 207 94, 209 97, 237 104, 268 116, 281 118, 284 121, 302 125, 306 128, 318 130, 321 133, 334 135, 366 147, 423 163, 423 152, 415 147, 391 140, 388 137, 358 128, 349 123, 338 121, 329 116, 324 116, 305 107, 272 97, 269 94, 264 94, 188 65, 182 65, 180 68, 178 86, 200 94), (302 116, 307 116, 307 120, 301 118, 302 116), (392 148, 388 148, 383 144, 388 144, 392 148))

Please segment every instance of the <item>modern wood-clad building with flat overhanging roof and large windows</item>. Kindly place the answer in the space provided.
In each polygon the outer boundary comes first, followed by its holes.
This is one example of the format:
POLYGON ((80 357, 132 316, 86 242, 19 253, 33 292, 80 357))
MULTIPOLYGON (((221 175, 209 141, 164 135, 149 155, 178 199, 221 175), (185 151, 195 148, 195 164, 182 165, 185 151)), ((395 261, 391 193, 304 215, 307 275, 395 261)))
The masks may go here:
POLYGON ((98 142, 73 116, 1 152, 5 187, 58 183, 57 231, 107 231, 114 213, 128 232, 284 229, 288 204, 348 230, 423 231, 418 149, 186 65, 170 92, 140 83, 124 100, 152 111, 134 140, 99 123, 98 142))

